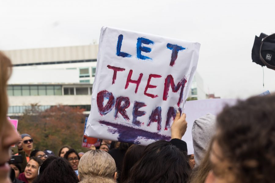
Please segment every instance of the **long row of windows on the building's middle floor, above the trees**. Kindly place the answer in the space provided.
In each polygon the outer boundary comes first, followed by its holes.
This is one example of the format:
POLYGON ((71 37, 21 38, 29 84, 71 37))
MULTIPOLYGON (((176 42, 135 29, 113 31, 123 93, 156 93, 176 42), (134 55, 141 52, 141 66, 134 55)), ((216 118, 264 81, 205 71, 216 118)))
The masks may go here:
MULTIPOLYGON (((64 87, 64 95, 89 95, 92 87, 64 87)), ((61 85, 9 85, 9 96, 62 95, 61 85)))

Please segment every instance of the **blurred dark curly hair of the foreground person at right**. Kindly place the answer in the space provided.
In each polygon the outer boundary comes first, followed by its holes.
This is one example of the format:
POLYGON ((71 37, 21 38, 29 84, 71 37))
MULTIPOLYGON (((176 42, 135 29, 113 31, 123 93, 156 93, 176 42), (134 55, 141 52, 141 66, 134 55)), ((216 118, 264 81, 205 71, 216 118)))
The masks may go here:
POLYGON ((256 96, 226 106, 215 137, 242 183, 275 182, 275 96, 256 96))

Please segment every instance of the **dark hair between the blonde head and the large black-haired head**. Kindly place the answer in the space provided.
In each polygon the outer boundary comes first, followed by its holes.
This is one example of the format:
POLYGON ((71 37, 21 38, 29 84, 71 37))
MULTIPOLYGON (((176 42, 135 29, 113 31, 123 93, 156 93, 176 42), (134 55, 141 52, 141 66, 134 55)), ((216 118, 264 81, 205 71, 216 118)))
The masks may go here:
POLYGON ((133 144, 129 147, 123 158, 120 182, 124 182, 129 177, 130 169, 141 158, 146 146, 133 144))

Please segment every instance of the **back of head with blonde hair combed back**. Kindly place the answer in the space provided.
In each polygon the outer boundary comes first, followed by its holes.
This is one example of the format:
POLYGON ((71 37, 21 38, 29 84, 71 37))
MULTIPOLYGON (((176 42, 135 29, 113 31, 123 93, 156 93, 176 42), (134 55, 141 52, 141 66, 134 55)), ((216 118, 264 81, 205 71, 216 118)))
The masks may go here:
POLYGON ((81 180, 89 177, 113 179, 116 173, 116 163, 108 152, 90 150, 81 157, 78 172, 81 180))

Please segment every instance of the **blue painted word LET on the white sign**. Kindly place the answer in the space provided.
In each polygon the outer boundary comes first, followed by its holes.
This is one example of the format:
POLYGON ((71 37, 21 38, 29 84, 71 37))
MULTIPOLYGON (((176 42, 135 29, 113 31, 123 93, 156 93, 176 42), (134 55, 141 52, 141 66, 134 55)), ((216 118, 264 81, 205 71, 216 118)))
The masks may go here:
MULTIPOLYGON (((117 56, 121 56, 121 57, 132 57, 132 55, 130 55, 129 53, 126 52, 122 52, 121 51, 121 46, 122 46, 122 40, 123 40, 123 35, 120 34, 118 36, 118 40, 117 40, 117 46, 116 46, 116 55, 117 56)), ((148 56, 144 56, 141 53, 145 52, 145 53, 149 53, 152 51, 152 48, 143 46, 143 45, 153 45, 154 41, 147 39, 147 38, 138 38, 137 41, 137 58, 138 59, 142 59, 142 60, 152 60, 152 58, 148 57, 148 56)), ((176 59, 178 58, 178 52, 185 50, 186 48, 179 46, 179 45, 173 45, 170 43, 167 43, 167 48, 172 50, 172 54, 171 54, 171 61, 170 61, 170 66, 174 66, 176 59)))

